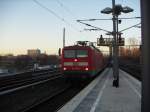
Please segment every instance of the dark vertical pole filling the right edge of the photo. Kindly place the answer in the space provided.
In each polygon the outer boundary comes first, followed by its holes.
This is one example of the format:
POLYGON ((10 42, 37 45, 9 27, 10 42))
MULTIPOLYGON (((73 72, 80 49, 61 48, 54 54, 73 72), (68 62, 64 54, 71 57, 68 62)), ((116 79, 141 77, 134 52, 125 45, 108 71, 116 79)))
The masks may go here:
POLYGON ((141 112, 150 112, 150 1, 141 0, 142 15, 142 108, 141 112))

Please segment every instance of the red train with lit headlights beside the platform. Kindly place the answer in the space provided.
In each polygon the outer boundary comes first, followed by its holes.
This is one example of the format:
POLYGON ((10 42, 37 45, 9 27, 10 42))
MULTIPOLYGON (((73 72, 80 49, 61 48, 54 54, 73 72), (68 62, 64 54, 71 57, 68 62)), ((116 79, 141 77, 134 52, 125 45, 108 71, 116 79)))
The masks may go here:
POLYGON ((62 72, 66 78, 92 78, 104 68, 102 52, 88 41, 62 49, 62 72))

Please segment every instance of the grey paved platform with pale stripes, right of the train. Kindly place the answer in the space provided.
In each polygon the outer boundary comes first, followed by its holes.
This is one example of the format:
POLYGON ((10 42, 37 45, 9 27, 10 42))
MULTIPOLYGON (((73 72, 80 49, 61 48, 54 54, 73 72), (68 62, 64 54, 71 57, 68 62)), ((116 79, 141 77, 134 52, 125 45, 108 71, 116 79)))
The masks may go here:
POLYGON ((141 112, 141 82, 119 70, 120 86, 112 86, 112 69, 105 69, 58 112, 141 112))

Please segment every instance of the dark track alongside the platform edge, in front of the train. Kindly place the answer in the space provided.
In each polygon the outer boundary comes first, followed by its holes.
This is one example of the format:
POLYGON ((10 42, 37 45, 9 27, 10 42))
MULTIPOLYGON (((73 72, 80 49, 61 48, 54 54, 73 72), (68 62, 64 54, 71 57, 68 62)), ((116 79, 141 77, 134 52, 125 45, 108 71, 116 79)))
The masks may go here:
POLYGON ((28 108, 22 112, 57 112, 57 110, 71 100, 89 83, 90 82, 86 82, 78 87, 67 85, 66 88, 60 90, 55 95, 43 99, 43 101, 38 102, 37 105, 33 105, 32 108, 28 108))

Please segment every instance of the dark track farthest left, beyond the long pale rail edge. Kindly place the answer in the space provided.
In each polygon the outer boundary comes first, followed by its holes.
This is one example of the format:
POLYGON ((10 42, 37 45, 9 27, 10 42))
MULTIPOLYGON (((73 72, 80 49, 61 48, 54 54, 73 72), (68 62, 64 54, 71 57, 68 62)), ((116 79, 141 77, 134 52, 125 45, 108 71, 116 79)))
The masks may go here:
POLYGON ((1 77, 0 78, 0 91, 16 88, 19 86, 31 84, 47 78, 55 77, 60 75, 61 72, 58 69, 45 70, 45 71, 29 71, 13 76, 1 77))

